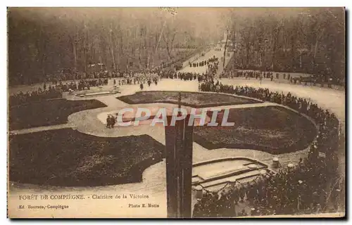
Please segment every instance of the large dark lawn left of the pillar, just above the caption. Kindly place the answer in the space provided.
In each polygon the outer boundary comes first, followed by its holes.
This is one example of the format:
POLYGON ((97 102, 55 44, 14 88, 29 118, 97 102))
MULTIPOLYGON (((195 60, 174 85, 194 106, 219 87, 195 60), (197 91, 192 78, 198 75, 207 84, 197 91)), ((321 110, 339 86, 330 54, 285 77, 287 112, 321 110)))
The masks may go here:
POLYGON ((165 149, 148 135, 107 138, 73 129, 10 136, 9 146, 9 179, 44 186, 140 182, 165 149))

